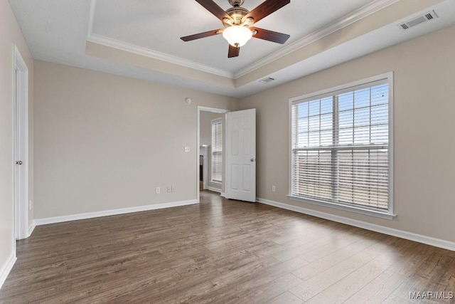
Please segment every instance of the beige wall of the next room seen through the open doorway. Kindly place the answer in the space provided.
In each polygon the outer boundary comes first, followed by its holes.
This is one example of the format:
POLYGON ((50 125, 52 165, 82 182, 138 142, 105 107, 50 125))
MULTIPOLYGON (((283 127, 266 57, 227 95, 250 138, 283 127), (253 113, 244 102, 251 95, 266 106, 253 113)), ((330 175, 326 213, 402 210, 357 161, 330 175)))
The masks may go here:
POLYGON ((208 150, 208 187, 215 188, 220 190, 220 192, 225 192, 225 151, 223 149, 223 183, 214 184, 210 182, 212 179, 212 120, 221 117, 223 119, 223 147, 225 147, 225 115, 215 112, 200 112, 200 145, 210 145, 208 150))

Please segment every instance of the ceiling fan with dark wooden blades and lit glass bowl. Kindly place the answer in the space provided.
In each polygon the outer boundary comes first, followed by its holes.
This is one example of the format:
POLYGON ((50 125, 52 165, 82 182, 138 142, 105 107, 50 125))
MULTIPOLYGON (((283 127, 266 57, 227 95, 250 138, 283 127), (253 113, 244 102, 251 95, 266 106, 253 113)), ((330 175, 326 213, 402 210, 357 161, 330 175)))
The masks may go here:
POLYGON ((220 19, 225 28, 218 28, 213 31, 181 37, 181 40, 183 41, 193 41, 222 33, 223 37, 229 43, 228 58, 232 58, 239 56, 240 46, 245 45, 252 37, 281 44, 289 39, 289 35, 285 33, 269 31, 252 25, 289 4, 291 2, 290 0, 266 0, 252 11, 248 11, 242 7, 244 0, 228 0, 229 4, 232 5, 232 8, 226 11, 218 6, 213 0, 196 1, 220 19))

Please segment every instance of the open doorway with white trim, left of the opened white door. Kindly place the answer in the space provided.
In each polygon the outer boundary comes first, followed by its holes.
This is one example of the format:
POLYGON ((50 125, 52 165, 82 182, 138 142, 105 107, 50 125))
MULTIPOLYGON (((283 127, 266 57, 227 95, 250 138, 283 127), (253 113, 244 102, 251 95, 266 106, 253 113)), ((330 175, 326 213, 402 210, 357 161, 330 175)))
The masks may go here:
MULTIPOLYGON (((197 165, 198 165, 198 179, 197 179, 197 197, 198 203, 200 202, 200 189, 208 189, 215 192, 220 192, 223 196, 223 185, 224 182, 224 162, 225 158, 223 157, 223 147, 225 145, 225 140, 223 140, 223 125, 225 113, 230 112, 229 110, 219 109, 219 108, 209 108, 198 106, 198 134, 197 134, 197 165), (218 145, 215 145, 213 149, 213 139, 212 131, 218 130, 218 145), (202 136, 201 136, 202 135, 202 136), (221 142, 219 140, 221 139, 221 142), (220 150, 220 145, 221 149, 220 150), (201 157, 202 156, 202 157, 201 157), (215 156, 215 157, 213 157, 215 156), (214 160, 215 166, 214 167, 214 160), (200 165, 203 165, 200 167, 200 165), (215 170, 214 170, 215 169, 215 170), (215 172, 215 174, 214 174, 215 172), (213 179, 215 175, 215 179, 213 179)), ((215 134, 216 135, 216 134, 215 134)))

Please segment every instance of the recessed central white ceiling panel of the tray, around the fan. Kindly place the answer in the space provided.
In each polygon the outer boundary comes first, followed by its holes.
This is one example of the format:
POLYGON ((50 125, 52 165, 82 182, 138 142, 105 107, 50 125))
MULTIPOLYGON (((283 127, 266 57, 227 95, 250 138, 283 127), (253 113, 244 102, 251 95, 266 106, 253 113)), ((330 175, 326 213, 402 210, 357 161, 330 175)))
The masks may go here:
MULTIPOLYGON (((246 0, 243 6, 252 10, 262 1, 246 0)), ((232 7, 228 0, 216 2, 223 9, 232 7)), ((370 2, 294 0, 255 26, 291 35, 287 42, 289 44, 370 2), (315 9, 309 11, 308 7, 315 9)), ((221 21, 203 6, 194 0, 151 3, 142 0, 97 0, 92 32, 231 73, 282 47, 278 43, 253 38, 241 48, 239 57, 228 58, 228 42, 221 35, 190 42, 179 39, 181 36, 223 28, 221 21)))

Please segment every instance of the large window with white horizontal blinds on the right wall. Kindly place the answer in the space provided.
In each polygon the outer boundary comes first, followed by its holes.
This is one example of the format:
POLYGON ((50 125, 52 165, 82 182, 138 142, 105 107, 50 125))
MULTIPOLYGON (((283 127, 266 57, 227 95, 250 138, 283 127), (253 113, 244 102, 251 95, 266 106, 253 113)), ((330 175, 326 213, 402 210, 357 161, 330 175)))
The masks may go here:
POLYGON ((392 75, 294 98, 291 199, 392 219, 392 75))

